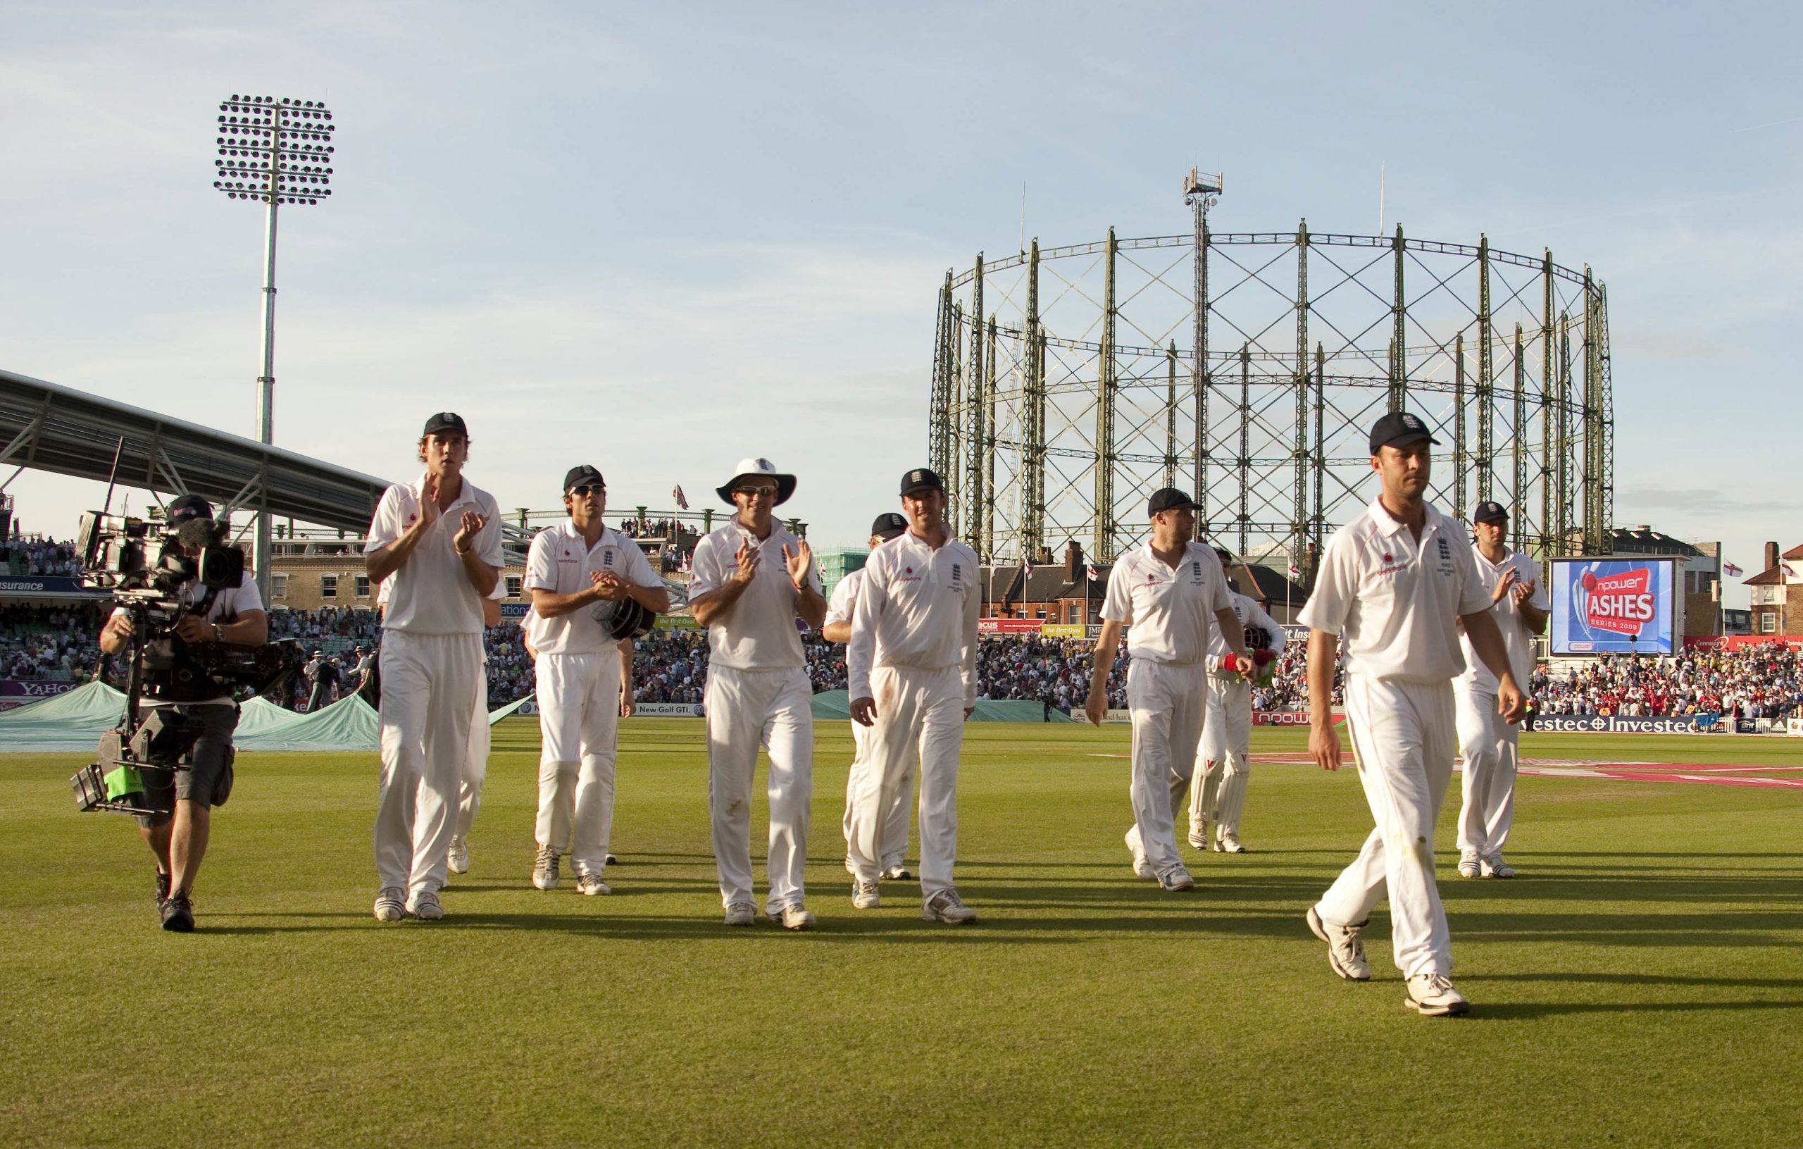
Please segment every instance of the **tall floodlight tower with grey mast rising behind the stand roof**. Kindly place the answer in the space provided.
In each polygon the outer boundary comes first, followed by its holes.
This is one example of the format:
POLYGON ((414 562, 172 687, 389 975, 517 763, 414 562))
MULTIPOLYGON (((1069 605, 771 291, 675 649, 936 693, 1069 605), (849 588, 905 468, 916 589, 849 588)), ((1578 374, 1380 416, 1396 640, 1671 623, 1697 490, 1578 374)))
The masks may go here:
MULTIPOLYGON (((233 96, 220 105, 213 186, 227 198, 265 206, 263 373, 256 377, 256 429, 265 444, 274 442, 276 429, 276 209, 317 204, 332 195, 332 112, 317 99, 233 96)), ((269 536, 269 491, 260 491, 252 565, 265 604, 269 536)))

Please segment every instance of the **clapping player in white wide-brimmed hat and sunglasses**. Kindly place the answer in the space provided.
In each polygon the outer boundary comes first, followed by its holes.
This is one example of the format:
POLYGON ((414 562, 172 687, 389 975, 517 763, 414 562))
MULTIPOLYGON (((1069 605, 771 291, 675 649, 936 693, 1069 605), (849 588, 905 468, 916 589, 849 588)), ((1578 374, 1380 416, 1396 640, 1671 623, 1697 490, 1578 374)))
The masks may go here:
POLYGON ((813 929, 802 904, 808 806, 813 801, 813 684, 795 619, 826 620, 813 550, 772 518, 795 494, 795 476, 746 458, 718 489, 737 507, 694 547, 689 610, 707 628, 707 801, 727 925, 757 922, 752 900, 752 777, 757 747, 770 752, 770 898, 784 929, 813 929))

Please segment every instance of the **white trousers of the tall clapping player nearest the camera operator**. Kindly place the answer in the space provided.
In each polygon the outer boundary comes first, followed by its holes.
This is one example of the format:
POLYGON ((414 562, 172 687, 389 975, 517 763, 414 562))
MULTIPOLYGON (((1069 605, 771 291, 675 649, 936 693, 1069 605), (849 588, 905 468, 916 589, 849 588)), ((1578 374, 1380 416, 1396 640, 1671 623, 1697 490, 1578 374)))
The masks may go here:
POLYGON ((445 882, 469 754, 481 635, 382 635, 382 790, 375 873, 409 900, 445 882))

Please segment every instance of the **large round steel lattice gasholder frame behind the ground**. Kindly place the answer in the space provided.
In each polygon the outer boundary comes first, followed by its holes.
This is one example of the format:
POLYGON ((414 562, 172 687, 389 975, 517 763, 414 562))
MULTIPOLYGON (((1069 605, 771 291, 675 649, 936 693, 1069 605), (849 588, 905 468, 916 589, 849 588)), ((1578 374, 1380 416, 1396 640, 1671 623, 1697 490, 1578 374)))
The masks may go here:
POLYGON ((1529 554, 1606 548, 1608 305, 1588 267, 1401 227, 1213 233, 1192 206, 1192 234, 1033 240, 947 272, 930 460, 984 561, 1067 539, 1112 559, 1172 485, 1201 534, 1286 552, 1309 584, 1376 496, 1372 420, 1405 408, 1441 440, 1435 505, 1506 503, 1529 554))

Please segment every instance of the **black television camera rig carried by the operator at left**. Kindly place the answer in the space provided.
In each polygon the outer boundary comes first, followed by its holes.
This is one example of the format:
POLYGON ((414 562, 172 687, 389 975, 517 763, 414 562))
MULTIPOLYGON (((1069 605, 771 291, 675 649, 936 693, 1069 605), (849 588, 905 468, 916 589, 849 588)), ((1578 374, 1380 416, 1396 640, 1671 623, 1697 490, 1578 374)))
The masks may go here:
POLYGON ((204 619, 215 597, 243 579, 243 550, 227 543, 229 530, 211 509, 169 523, 101 510, 81 516, 81 583, 110 592, 114 606, 132 619, 124 722, 101 736, 99 761, 70 779, 81 810, 164 813, 148 808, 142 770, 186 768, 200 722, 171 705, 146 707, 144 698, 242 700, 281 685, 305 660, 294 640, 240 646, 177 637, 184 617, 204 619), (202 586, 198 602, 182 601, 191 583, 202 586))

